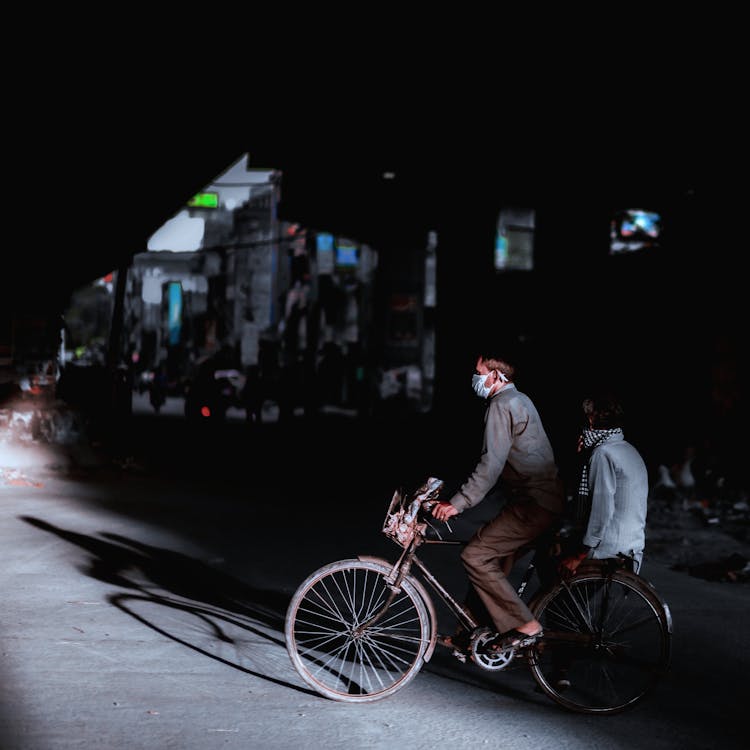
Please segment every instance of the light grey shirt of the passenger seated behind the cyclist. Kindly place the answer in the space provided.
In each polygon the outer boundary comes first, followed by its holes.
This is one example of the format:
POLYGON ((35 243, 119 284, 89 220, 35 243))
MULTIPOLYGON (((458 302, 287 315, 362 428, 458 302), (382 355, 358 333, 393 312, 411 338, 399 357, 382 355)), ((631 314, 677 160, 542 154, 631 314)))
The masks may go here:
POLYGON ((635 553, 638 567, 646 543, 648 471, 622 435, 612 435, 589 458, 591 513, 583 543, 600 560, 635 553))

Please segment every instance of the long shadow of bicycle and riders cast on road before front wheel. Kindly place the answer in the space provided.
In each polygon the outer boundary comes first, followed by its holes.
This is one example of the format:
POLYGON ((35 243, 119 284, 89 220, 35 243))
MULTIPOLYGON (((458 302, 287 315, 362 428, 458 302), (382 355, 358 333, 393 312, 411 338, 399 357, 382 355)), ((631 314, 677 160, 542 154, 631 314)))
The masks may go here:
POLYGON ((129 589, 106 599, 138 622, 247 674, 318 695, 270 674, 293 671, 283 636, 288 596, 253 588, 183 553, 119 534, 91 536, 40 518, 20 518, 89 552, 81 572, 129 589))

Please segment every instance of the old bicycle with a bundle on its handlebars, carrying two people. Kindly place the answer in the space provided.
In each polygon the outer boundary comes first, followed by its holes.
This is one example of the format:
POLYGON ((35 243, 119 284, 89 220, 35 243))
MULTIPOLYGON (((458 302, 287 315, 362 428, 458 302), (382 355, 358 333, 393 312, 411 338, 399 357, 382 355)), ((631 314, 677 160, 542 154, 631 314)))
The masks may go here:
MULTIPOLYGON (((539 640, 499 653, 485 649, 496 633, 416 555, 423 544, 460 543, 428 534, 435 528, 428 513, 442 486, 430 477, 410 497, 394 492, 382 531, 401 548, 395 562, 366 555, 339 560, 300 584, 287 609, 285 638, 302 679, 325 697, 353 703, 408 685, 437 645, 455 648, 438 633, 426 582, 469 634, 465 650, 454 651, 462 660, 495 671, 525 658, 542 692, 572 711, 613 714, 640 701, 667 672, 671 656, 672 618, 654 586, 625 559, 589 561, 531 597, 529 608, 544 629, 539 640)), ((537 547, 519 596, 543 554, 537 547)))

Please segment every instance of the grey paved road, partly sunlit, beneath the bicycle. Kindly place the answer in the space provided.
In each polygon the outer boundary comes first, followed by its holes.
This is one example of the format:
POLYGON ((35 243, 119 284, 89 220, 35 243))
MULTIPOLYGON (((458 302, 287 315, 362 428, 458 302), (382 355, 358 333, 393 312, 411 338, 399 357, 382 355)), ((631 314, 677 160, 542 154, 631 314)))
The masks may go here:
MULTIPOLYGON (((523 669, 488 675, 441 650, 386 700, 312 693, 284 647, 289 597, 326 562, 395 549, 385 505, 436 473, 426 452, 408 425, 386 439, 351 420, 166 424, 129 434, 121 468, 27 451, 4 471, 2 750, 747 746, 750 587, 656 565, 673 668, 622 715, 565 712, 523 669)), ((460 589, 457 560, 430 562, 460 589)))

